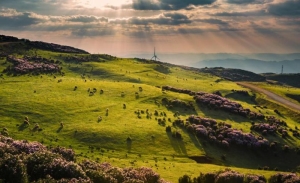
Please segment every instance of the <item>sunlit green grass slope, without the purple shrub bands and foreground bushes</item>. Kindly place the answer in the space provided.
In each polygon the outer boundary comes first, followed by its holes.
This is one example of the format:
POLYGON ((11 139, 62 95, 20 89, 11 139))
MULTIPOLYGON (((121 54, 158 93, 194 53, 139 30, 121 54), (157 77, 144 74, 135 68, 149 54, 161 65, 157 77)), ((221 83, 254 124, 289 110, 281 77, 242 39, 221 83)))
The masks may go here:
POLYGON ((12 51, 15 44, 0 44, 0 127, 15 139, 70 147, 78 160, 151 167, 172 182, 184 174, 198 176, 200 171, 225 167, 268 177, 273 170, 294 171, 300 164, 300 140, 293 136, 300 127, 299 114, 284 115, 291 113, 285 108, 280 108, 279 114, 276 104, 264 96, 248 90, 246 95, 236 92, 245 89, 234 82, 143 59, 50 51, 27 43, 12 51), (57 69, 51 70, 52 66, 57 69), (163 90, 162 86, 221 94, 244 109, 284 121, 286 126, 280 127, 287 135, 282 137, 278 131, 263 135, 250 128, 267 123, 265 120, 199 104, 194 95, 163 90), (179 102, 164 105, 165 98, 179 102), (230 124, 243 133, 252 131, 277 145, 274 149, 220 146, 186 128, 191 115, 230 124), (177 124, 178 120, 183 125, 177 124), (168 126, 173 133, 166 131, 168 126), (181 138, 174 137, 177 132, 181 138))

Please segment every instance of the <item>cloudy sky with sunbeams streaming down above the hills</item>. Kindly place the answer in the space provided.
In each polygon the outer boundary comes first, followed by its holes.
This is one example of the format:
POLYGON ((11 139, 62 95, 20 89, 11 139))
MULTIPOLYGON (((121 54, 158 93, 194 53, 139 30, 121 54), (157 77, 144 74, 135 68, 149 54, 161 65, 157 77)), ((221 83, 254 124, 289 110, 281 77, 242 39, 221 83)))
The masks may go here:
POLYGON ((300 52, 300 0, 0 0, 0 34, 90 53, 300 52))

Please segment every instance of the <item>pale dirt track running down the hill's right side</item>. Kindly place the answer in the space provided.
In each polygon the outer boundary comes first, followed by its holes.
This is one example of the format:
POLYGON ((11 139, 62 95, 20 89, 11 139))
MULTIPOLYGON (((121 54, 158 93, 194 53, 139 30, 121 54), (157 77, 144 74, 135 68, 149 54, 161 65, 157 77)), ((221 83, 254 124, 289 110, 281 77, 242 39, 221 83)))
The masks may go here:
POLYGON ((265 95, 267 95, 270 99, 272 100, 275 100, 276 102, 278 103, 281 103, 289 108, 292 108, 298 112, 300 112, 300 105, 299 104, 295 104, 279 95, 276 95, 268 90, 265 90, 265 89, 262 89, 262 88, 259 88, 258 86, 255 86, 255 85, 252 85, 250 83, 244 83, 244 82, 237 82, 238 85, 241 85, 241 86, 244 86, 246 88, 250 88, 252 90, 255 90, 255 91, 258 91, 258 92, 261 92, 265 95))

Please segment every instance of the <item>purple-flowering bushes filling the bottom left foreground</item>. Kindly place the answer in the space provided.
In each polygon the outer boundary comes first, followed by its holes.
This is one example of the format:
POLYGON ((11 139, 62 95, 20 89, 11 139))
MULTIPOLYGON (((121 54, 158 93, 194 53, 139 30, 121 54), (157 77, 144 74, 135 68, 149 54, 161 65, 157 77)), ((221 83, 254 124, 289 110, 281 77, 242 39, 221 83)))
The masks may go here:
POLYGON ((0 136, 0 182, 165 182, 152 169, 118 168, 109 163, 75 162, 62 147, 0 136))

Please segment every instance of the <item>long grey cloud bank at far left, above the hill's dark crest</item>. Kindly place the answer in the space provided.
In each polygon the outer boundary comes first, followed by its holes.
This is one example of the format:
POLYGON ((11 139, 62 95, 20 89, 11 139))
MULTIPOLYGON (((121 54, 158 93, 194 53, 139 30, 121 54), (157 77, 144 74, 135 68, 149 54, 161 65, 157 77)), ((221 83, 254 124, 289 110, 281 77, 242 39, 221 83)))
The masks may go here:
MULTIPOLYGON (((108 18, 97 16, 44 16, 33 12, 18 12, 0 9, 0 30, 73 31, 87 29, 89 35, 96 34, 94 28, 108 24, 108 18)), ((82 33, 83 31, 79 32, 82 33)), ((98 31, 99 32, 99 31, 98 31)), ((103 31, 102 31, 103 33, 103 31)))

